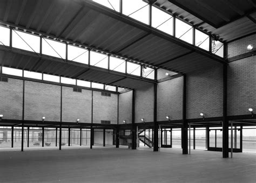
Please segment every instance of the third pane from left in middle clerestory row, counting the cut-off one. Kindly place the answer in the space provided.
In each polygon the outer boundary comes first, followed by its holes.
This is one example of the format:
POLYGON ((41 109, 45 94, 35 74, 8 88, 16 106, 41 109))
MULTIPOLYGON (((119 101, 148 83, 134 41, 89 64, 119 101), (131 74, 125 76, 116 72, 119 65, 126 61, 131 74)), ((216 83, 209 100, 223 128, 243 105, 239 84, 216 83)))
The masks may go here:
POLYGON ((66 58, 66 44, 50 39, 42 39, 42 53, 52 57, 66 58))

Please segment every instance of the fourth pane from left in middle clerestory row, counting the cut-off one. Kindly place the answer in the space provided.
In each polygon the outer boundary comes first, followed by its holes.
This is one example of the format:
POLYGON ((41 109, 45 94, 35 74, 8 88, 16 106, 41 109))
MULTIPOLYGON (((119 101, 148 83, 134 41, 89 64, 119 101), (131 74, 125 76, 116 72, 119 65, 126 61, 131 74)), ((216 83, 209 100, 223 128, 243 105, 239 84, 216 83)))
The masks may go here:
POLYGON ((68 60, 88 64, 88 54, 87 49, 68 45, 68 60))

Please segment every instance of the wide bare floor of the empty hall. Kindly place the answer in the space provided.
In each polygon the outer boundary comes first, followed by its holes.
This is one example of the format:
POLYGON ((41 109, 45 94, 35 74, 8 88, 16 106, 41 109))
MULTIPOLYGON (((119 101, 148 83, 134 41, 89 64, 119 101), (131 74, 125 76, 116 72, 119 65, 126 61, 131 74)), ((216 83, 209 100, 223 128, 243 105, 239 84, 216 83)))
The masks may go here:
POLYGON ((0 182, 255 182, 256 153, 98 147, 0 152, 0 182))

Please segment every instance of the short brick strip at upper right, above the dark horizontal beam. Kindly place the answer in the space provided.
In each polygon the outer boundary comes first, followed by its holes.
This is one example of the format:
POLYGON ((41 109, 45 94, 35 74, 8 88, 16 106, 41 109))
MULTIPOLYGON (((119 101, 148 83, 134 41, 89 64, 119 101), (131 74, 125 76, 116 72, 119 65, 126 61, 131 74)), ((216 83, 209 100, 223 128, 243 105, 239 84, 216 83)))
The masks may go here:
POLYGON ((248 52, 247 46, 250 44, 256 46, 256 34, 228 43, 228 58, 248 52))

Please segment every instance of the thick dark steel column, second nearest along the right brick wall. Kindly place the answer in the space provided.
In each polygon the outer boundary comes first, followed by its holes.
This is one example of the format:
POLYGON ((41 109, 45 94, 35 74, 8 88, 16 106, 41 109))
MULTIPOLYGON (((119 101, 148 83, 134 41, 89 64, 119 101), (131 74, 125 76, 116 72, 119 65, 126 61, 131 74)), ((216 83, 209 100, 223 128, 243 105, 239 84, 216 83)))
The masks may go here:
POLYGON ((183 123, 181 128, 182 153, 187 154, 187 123, 186 123, 186 74, 183 75, 183 123))

